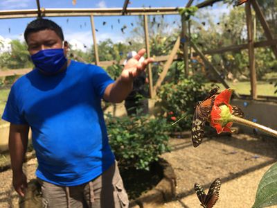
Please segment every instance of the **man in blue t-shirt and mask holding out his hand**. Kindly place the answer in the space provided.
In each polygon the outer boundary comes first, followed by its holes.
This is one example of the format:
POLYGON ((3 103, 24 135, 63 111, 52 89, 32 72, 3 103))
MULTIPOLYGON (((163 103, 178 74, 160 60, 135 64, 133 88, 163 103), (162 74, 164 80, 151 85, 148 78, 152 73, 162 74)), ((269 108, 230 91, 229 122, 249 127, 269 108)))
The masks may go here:
POLYGON ((141 49, 114 81, 100 67, 67 60, 62 28, 51 20, 31 21, 24 37, 35 69, 12 86, 2 117, 10 122, 15 191, 24 197, 30 127, 44 207, 127 207, 100 101, 123 101, 153 59, 140 63, 141 49))

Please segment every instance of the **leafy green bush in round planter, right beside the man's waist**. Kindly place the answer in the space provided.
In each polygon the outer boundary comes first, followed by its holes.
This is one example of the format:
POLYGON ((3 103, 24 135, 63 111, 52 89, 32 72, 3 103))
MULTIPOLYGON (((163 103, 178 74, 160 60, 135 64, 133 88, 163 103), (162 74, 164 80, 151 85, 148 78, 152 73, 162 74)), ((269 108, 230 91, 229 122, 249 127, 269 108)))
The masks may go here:
POLYGON ((149 170, 158 156, 169 151, 166 119, 150 116, 112 117, 107 114, 109 144, 124 168, 149 170))

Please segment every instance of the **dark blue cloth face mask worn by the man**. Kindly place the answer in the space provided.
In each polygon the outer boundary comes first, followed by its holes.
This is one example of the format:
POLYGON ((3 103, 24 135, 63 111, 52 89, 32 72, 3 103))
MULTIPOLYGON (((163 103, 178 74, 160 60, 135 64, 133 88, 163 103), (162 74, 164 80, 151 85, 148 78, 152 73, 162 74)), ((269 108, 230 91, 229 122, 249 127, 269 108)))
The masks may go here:
POLYGON ((45 49, 30 57, 35 67, 46 73, 55 73, 59 71, 66 62, 64 49, 45 49))

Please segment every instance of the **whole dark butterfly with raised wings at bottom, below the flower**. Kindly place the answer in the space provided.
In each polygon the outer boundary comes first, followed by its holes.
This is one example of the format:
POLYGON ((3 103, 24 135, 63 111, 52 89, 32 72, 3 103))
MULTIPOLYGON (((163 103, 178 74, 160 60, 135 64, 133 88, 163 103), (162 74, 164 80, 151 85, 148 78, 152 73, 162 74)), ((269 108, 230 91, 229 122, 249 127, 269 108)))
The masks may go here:
POLYGON ((208 189, 208 194, 206 195, 204 189, 199 184, 195 184, 195 192, 202 207, 211 208, 215 205, 218 198, 220 198, 220 185, 220 178, 215 179, 215 181, 211 184, 210 189, 208 189))

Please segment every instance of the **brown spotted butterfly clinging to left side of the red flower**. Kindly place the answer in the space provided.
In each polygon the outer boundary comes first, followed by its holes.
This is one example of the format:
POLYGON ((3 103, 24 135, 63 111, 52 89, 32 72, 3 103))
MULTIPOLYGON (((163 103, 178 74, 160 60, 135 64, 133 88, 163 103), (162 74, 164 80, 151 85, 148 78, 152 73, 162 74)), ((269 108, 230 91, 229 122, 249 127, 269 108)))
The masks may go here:
POLYGON ((211 113, 213 102, 215 101, 215 94, 219 87, 211 90, 208 96, 202 102, 198 102, 195 106, 195 113, 193 114, 193 125, 191 128, 191 138, 193 139, 193 146, 197 147, 201 144, 204 137, 205 123, 208 121, 208 115, 211 113))

